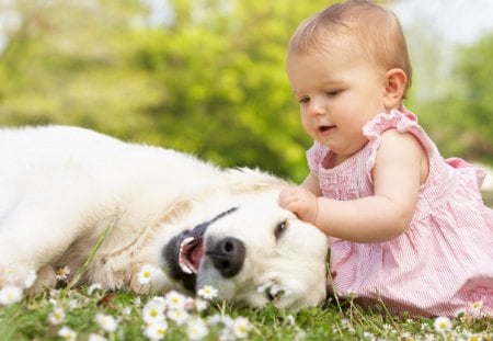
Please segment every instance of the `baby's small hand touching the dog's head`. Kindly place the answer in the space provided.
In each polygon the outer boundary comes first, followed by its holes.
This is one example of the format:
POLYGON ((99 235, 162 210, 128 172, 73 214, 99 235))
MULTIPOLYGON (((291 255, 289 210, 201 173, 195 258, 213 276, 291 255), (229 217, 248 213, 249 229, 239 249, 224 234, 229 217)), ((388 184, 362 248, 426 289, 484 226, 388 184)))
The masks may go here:
POLYGON ((316 224, 318 215, 317 196, 310 191, 296 186, 279 193, 279 206, 295 213, 298 218, 316 224))

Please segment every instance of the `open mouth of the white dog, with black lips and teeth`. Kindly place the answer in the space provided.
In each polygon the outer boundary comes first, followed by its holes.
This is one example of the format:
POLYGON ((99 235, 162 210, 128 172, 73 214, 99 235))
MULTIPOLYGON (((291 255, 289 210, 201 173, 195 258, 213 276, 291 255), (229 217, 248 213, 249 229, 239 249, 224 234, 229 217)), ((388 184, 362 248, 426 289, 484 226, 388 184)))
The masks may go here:
POLYGON ((192 230, 184 230, 174 236, 162 250, 163 270, 167 274, 181 281, 186 289, 194 292, 197 273, 205 255, 204 235, 207 228, 237 209, 238 207, 230 208, 211 220, 197 225, 192 230))

